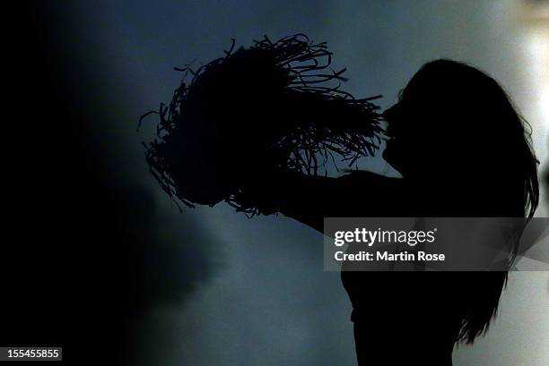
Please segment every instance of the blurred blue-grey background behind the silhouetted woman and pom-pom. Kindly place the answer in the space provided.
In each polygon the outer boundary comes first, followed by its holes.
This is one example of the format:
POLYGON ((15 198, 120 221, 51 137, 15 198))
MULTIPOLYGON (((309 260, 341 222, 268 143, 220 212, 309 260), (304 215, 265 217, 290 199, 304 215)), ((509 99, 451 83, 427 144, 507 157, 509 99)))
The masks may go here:
MULTIPOLYGON (((338 274, 323 271, 321 234, 287 217, 248 219, 224 204, 179 212, 148 172, 141 141, 153 139, 156 121, 146 120, 136 132, 139 116, 170 102, 182 76, 174 66, 205 64, 231 47, 231 38, 248 46, 264 35, 276 39, 302 32, 327 41, 334 67, 348 68, 344 89, 357 97, 382 94, 377 101, 382 108, 396 102, 398 91, 425 62, 446 57, 472 64, 509 92, 532 126, 540 171, 547 168, 548 1, 36 5, 32 19, 39 26, 29 39, 45 39, 48 47, 36 53, 48 57, 50 82, 66 103, 45 112, 51 119, 42 122, 55 127, 70 121, 67 128, 73 131, 57 134, 44 127, 44 132, 57 141, 77 141, 71 151, 83 156, 59 168, 74 192, 64 200, 65 209, 72 209, 65 210, 69 221, 63 222, 68 226, 85 215, 78 220, 82 230, 73 226, 74 235, 58 250, 68 258, 67 247, 80 248, 86 260, 74 267, 85 271, 86 284, 102 284, 89 296, 89 287, 77 285, 83 308, 101 311, 95 317, 93 311, 74 311, 74 319, 88 318, 79 326, 83 333, 89 327, 93 335, 109 334, 109 345, 129 364, 356 364, 351 305, 338 274), (113 240, 101 229, 104 222, 116 226, 123 239, 113 240)), ((31 30, 25 21, 19 27, 11 31, 31 30)), ((29 44, 20 47, 24 55, 35 55, 29 44)), ((27 65, 31 72, 45 67, 29 60, 27 65)), ((26 93, 30 79, 22 87, 26 93)), ((48 92, 47 85, 41 88, 48 92)), ((380 157, 364 161, 362 168, 396 174, 380 157)), ((42 176, 48 180, 48 172, 42 176)), ((543 195, 538 217, 549 215, 545 187, 543 195)), ((58 277, 67 276, 73 275, 58 277)), ((547 365, 548 341, 549 274, 514 272, 487 336, 459 346, 454 362, 547 365)))

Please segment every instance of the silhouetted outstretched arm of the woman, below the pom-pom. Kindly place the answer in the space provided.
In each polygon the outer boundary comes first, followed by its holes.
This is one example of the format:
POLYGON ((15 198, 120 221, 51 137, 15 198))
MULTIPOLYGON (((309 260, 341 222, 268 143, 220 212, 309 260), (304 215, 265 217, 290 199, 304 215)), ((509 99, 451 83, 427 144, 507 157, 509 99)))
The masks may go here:
POLYGON ((401 204, 402 179, 352 171, 340 177, 261 174, 242 200, 262 214, 282 213, 323 232, 324 217, 390 217, 401 204))

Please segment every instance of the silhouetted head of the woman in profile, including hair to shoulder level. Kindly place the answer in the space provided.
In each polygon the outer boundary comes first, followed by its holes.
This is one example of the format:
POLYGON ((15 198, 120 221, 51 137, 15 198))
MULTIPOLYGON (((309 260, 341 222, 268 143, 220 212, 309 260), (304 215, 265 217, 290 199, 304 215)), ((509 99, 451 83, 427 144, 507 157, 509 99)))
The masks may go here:
POLYGON ((392 139, 383 156, 405 178, 479 192, 503 185, 523 190, 522 207, 536 208, 527 123, 484 72, 450 60, 424 64, 384 116, 392 139))

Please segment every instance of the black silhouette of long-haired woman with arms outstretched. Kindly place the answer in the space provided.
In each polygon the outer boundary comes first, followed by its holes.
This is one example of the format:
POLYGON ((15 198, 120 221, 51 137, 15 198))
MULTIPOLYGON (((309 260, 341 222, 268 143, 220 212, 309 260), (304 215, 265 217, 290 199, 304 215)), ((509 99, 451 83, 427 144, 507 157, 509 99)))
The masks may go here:
MULTIPOLYGON (((196 89, 211 89, 205 82, 197 81, 196 89)), ((179 100, 176 97, 177 93, 174 100, 179 100)), ((284 92, 281 98, 297 100, 302 96, 284 92)), ((279 105, 283 104, 288 102, 279 105)), ((179 117, 179 109, 173 109, 179 117)), ((189 115, 196 118, 202 114, 201 121, 212 120, 205 118, 212 108, 200 110, 189 115)), ((274 109, 268 112, 276 113, 274 109)), ((415 73, 396 105, 383 116, 390 137, 383 157, 402 178, 364 171, 331 178, 279 169, 271 161, 247 166, 238 172, 246 174, 246 179, 235 183, 231 178, 226 183, 223 180, 229 179, 230 172, 223 170, 227 168, 218 157, 216 164, 205 164, 204 159, 212 155, 205 149, 204 158, 196 164, 207 168, 199 174, 200 184, 194 183, 199 187, 189 200, 213 205, 225 197, 231 204, 254 207, 262 214, 293 217, 319 232, 323 231, 323 217, 533 215, 538 203, 536 158, 525 123, 491 77, 466 64, 433 61, 415 73), (238 194, 223 196, 223 189, 233 185, 238 185, 238 194), (208 195, 213 192, 215 200, 210 200, 208 195)), ((343 120, 345 117, 341 115, 343 120)), ((169 137, 178 136, 176 123, 169 127, 169 137)), ((191 138, 196 138, 197 132, 191 132, 195 133, 191 138)), ((203 135, 215 133, 208 128, 203 135)), ((181 139, 151 145, 148 156, 163 188, 179 198, 179 192, 188 188, 188 177, 194 178, 178 167, 183 156, 181 139)), ((205 143, 205 139, 198 140, 205 143)), ((223 139, 215 141, 225 143, 223 139)), ((226 149, 230 152, 240 147, 226 149)), ((472 343, 488 328, 507 272, 344 271, 342 280, 353 303, 360 365, 446 366, 451 365, 458 342, 472 343)))

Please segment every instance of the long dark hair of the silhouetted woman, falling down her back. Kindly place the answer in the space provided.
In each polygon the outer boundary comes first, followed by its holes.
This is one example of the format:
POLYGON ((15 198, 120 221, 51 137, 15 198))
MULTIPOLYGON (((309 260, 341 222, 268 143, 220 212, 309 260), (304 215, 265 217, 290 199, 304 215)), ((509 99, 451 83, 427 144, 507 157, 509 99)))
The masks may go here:
MULTIPOLYGON (((423 135, 419 140, 437 140, 433 161, 447 163, 442 169, 454 174, 449 195, 460 193, 445 212, 457 208, 455 216, 533 217, 539 188, 530 126, 497 81, 467 64, 436 60, 414 75, 401 102, 405 115, 419 122, 411 123, 420 125, 414 132, 423 135)), ((473 343, 496 316, 508 272, 468 275, 455 277, 466 297, 457 340, 473 343), (463 284, 468 280, 473 283, 463 284)))

